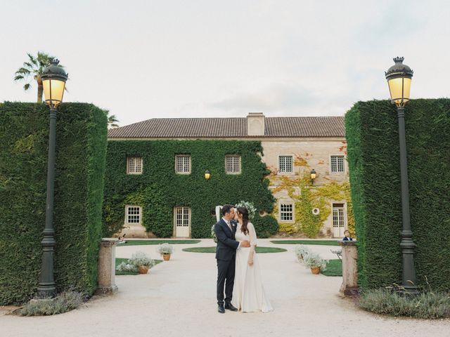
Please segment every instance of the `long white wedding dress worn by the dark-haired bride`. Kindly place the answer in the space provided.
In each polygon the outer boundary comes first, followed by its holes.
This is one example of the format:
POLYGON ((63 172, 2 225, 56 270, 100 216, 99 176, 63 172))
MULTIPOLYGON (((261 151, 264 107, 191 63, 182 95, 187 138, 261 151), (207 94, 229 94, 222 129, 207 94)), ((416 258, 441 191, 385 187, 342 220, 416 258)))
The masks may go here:
POLYGON ((233 304, 242 312, 269 312, 273 310, 262 286, 257 253, 253 253, 253 265, 248 265, 250 251, 255 251, 256 232, 252 223, 248 223, 248 234, 240 230, 240 223, 236 230, 236 241, 249 241, 250 247, 240 247, 236 251, 236 272, 234 275, 233 304))

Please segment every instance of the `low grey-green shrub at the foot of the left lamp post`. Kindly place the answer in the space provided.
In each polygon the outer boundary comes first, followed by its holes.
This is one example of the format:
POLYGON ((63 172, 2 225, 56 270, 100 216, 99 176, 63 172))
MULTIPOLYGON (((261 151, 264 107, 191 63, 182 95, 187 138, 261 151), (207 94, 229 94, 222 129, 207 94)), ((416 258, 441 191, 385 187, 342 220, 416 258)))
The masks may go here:
POLYGON ((31 300, 23 308, 15 310, 18 316, 58 315, 77 309, 82 304, 82 294, 63 291, 53 300, 31 300))

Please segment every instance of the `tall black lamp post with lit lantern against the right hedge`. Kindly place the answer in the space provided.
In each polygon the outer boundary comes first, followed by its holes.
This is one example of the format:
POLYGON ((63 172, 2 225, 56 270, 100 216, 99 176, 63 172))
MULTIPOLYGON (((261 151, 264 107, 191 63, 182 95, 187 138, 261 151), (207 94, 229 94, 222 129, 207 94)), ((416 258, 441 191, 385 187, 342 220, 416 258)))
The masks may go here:
POLYGON ((409 101, 411 78, 413 71, 403 64, 404 58, 394 58, 395 64, 385 72, 387 84, 391 95, 391 101, 397 105, 397 117, 399 120, 399 144, 400 144, 400 180, 401 180, 401 218, 403 230, 401 231, 401 253, 403 255, 402 286, 405 293, 418 293, 416 285, 416 270, 414 268, 413 232, 409 217, 409 187, 408 166, 406 162, 406 138, 405 138, 405 105, 409 101))

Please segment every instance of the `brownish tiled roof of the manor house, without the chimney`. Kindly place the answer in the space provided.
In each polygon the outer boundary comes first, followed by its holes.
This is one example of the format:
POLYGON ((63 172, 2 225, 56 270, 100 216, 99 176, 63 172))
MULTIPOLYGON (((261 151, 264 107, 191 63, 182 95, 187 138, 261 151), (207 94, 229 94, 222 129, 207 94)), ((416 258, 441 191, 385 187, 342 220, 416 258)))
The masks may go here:
POLYGON ((162 118, 113 128, 108 138, 344 137, 344 117, 265 117, 264 136, 248 136, 247 119, 162 118))

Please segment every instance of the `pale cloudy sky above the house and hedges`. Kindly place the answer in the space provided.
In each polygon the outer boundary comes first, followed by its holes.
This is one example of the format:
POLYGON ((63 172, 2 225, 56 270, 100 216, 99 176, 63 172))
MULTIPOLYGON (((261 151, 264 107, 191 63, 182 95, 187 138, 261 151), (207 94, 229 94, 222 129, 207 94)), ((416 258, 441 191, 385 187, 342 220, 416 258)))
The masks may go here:
POLYGON ((13 81, 37 51, 69 73, 65 102, 120 126, 151 118, 342 116, 389 98, 404 56, 411 98, 448 97, 450 1, 2 1, 0 102, 34 102, 13 81))

